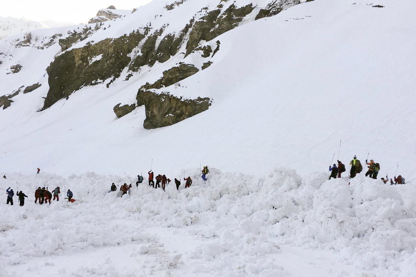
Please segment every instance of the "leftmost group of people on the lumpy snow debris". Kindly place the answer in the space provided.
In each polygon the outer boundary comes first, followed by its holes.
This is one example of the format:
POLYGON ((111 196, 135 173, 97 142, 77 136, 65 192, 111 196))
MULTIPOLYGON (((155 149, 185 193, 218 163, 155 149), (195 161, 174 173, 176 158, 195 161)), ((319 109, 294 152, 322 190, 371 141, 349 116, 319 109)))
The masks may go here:
MULTIPOLYGON (((43 203, 48 203, 49 201, 49 205, 51 204, 51 199, 52 201, 56 199, 56 201, 59 201, 59 194, 61 193, 59 186, 57 186, 53 191, 53 199, 52 199, 52 193, 50 191, 48 191, 48 188, 45 189, 45 187, 40 188, 38 187, 35 190, 35 203, 37 203, 37 201, 39 200, 39 204, 43 204, 43 203)), ((13 196, 15 195, 13 189, 10 189, 10 187, 8 189, 6 189, 6 193, 7 193, 7 202, 6 204, 9 204, 12 206, 13 205, 13 196)), ((22 191, 17 192, 16 194, 17 196, 19 196, 19 204, 20 206, 24 206, 25 205, 25 197, 27 197, 27 195, 25 195, 22 191)), ((68 202, 74 202, 75 200, 72 199, 72 191, 70 191, 68 189, 67 191, 67 198, 68 202)))

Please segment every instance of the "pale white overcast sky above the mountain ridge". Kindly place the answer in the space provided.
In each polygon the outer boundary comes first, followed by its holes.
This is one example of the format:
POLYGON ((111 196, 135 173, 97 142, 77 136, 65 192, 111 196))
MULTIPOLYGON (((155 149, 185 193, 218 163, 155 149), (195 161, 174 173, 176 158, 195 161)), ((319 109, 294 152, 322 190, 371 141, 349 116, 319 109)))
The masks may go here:
POLYGON ((133 10, 149 2, 151 0, 6 0, 1 2, 0 16, 77 24, 87 23, 99 9, 110 5, 120 10, 133 10))

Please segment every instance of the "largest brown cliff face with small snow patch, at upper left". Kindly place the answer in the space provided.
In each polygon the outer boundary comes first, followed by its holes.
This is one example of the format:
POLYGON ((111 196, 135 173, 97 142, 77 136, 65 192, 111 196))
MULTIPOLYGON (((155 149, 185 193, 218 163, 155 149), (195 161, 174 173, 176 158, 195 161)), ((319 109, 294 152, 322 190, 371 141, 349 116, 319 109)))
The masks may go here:
POLYGON ((49 91, 42 109, 49 108, 59 99, 68 97, 82 86, 96 85, 107 78, 118 78, 129 64, 127 54, 137 46, 145 34, 134 32, 118 39, 104 39, 97 44, 66 51, 57 56, 47 68, 49 91), (90 63, 94 56, 100 60, 90 63))

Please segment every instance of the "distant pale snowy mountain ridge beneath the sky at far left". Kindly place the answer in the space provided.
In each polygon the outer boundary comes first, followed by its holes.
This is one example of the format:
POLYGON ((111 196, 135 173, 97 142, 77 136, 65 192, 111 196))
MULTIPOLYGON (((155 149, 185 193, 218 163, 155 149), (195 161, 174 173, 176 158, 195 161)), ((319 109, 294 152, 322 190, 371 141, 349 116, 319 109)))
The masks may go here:
POLYGON ((0 39, 3 37, 29 32, 32 30, 45 29, 51 27, 62 27, 68 25, 74 24, 70 22, 55 22, 53 20, 37 22, 33 20, 28 20, 24 17, 0 17, 0 39))

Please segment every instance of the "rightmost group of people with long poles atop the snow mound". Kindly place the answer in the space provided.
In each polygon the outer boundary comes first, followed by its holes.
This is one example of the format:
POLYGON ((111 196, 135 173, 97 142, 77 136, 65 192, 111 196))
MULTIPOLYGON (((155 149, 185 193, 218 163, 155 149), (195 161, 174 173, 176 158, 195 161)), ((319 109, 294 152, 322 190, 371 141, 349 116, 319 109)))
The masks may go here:
MULTIPOLYGON (((332 167, 329 167, 329 171, 331 172, 331 175, 329 176, 329 179, 331 178, 341 178, 341 173, 345 172, 345 165, 340 162, 338 162, 338 166, 336 164, 334 164, 332 167)), ((373 159, 370 159, 370 162, 368 162, 367 160, 365 160, 366 165, 368 165, 368 171, 366 172, 365 176, 369 176, 372 179, 377 179, 377 175, 379 174, 380 171, 380 164, 374 162, 373 159)), ((357 156, 354 156, 354 159, 352 159, 352 161, 349 163, 351 165, 351 170, 349 172, 349 178, 354 178, 358 173, 361 173, 363 170, 362 164, 360 162, 359 159, 357 159, 357 156)), ((381 180, 384 182, 384 184, 387 183, 387 181, 389 181, 388 176, 386 175, 386 179, 381 178, 381 180)), ((399 175, 397 178, 396 176, 394 176, 394 181, 392 179, 390 179, 390 184, 404 184, 405 179, 399 175)))

